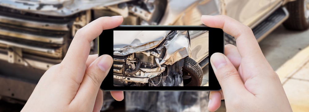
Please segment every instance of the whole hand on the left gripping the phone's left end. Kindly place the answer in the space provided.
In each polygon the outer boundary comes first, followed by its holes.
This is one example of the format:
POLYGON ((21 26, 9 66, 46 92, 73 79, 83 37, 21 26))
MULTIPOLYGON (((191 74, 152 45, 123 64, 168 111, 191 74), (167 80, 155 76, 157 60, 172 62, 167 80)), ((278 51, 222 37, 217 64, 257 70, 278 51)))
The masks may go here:
MULTIPOLYGON (((103 104, 99 88, 113 60, 109 55, 89 55, 90 43, 122 21, 122 16, 101 17, 79 29, 62 62, 44 73, 22 111, 99 112, 103 104)), ((122 91, 111 93, 117 101, 124 98, 122 91)))

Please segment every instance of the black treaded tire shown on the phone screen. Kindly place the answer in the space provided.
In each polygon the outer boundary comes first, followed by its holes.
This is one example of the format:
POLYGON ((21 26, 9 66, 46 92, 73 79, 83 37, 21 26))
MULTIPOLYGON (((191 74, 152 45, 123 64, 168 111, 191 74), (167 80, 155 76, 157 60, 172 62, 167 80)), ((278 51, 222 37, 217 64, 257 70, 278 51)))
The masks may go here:
POLYGON ((184 58, 184 66, 182 67, 183 76, 190 74, 191 80, 184 86, 201 86, 203 80, 203 71, 199 64, 193 59, 186 57, 184 58))

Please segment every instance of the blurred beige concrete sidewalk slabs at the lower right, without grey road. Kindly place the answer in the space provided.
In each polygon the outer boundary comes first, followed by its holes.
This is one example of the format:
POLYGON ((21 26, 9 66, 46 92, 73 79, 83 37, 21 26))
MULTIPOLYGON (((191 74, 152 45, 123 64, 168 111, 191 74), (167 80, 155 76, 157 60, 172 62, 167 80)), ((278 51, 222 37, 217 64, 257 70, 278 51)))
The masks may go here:
POLYGON ((309 46, 277 69, 295 112, 309 112, 309 46))

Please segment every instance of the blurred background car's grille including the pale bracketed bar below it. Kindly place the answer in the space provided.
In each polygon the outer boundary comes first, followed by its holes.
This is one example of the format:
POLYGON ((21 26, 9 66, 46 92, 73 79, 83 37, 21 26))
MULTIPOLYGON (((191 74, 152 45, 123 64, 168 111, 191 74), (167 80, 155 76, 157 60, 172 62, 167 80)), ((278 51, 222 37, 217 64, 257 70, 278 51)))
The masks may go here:
POLYGON ((72 24, 84 14, 56 17, 0 6, 0 59, 45 70, 60 63, 73 38, 72 24), (20 55, 18 62, 10 61, 10 52, 20 55))

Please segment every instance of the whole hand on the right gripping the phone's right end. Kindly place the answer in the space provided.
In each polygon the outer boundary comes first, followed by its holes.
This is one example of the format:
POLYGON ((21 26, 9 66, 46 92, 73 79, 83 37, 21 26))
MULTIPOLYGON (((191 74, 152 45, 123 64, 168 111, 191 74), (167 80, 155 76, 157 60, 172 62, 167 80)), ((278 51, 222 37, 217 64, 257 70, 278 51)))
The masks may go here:
POLYGON ((203 15, 201 20, 208 27, 221 28, 232 35, 237 44, 225 45, 225 55, 214 53, 210 58, 222 90, 210 92, 208 110, 217 110, 221 99, 225 99, 227 111, 292 111, 280 79, 265 59, 251 28, 225 15, 203 15))

